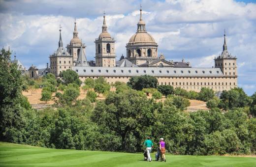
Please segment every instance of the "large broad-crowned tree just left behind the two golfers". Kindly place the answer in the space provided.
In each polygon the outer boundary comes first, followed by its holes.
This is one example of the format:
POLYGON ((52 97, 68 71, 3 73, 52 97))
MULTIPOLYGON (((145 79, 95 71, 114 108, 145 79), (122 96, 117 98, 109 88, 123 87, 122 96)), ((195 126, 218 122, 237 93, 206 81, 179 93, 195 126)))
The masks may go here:
MULTIPOLYGON (((92 120, 99 126, 108 127, 121 138, 121 150, 135 152, 136 149, 132 149, 128 144, 129 140, 134 139, 132 134, 137 134, 139 137, 139 134, 144 131, 143 128, 154 122, 156 107, 153 101, 140 97, 134 90, 118 94, 111 92, 105 101, 97 102, 92 120)), ((141 137, 137 144, 141 145, 141 137)))

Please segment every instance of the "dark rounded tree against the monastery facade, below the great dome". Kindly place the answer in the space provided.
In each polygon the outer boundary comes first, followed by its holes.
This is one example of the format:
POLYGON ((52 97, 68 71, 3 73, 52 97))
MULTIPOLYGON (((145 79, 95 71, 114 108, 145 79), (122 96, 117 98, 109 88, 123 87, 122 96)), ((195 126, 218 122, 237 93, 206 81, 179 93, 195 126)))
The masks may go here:
POLYGON ((158 79, 149 75, 131 77, 127 84, 135 90, 142 90, 143 88, 150 87, 157 88, 158 79))

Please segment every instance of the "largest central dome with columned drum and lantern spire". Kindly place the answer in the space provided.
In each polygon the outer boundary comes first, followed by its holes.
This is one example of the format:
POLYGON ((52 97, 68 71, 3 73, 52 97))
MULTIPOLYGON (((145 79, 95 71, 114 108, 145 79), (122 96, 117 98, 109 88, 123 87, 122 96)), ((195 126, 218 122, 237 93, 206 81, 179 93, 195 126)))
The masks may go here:
POLYGON ((137 32, 130 37, 126 44, 126 51, 127 59, 136 65, 158 59, 158 44, 146 30, 146 24, 142 20, 141 6, 137 32))

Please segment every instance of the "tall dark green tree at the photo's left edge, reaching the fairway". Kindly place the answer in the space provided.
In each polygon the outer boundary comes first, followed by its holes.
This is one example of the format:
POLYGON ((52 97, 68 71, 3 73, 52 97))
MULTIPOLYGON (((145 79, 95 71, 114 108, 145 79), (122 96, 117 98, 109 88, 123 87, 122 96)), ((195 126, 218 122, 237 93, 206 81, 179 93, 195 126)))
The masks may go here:
POLYGON ((10 63, 10 55, 9 50, 0 51, 0 140, 21 142, 24 127, 22 113, 25 110, 20 100, 23 79, 17 64, 10 63))

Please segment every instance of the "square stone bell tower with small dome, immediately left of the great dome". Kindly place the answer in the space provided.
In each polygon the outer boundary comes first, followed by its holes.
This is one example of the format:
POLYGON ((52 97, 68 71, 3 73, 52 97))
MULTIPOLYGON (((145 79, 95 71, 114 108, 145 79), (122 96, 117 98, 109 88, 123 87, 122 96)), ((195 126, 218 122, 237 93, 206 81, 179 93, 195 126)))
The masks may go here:
POLYGON ((105 12, 103 15, 102 32, 95 40, 96 47, 96 66, 97 67, 115 67, 116 54, 115 54, 115 39, 107 31, 105 20, 105 12))

